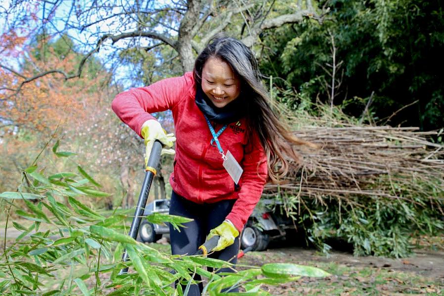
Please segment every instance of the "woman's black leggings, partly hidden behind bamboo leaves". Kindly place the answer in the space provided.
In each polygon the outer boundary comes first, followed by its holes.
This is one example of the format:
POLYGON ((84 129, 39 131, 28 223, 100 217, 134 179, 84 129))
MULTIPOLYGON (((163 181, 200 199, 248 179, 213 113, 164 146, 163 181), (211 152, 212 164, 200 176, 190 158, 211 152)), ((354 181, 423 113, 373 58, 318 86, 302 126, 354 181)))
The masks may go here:
MULTIPOLYGON (((193 254, 197 248, 205 243, 205 239, 210 230, 219 226, 225 217, 230 213, 234 204, 234 199, 222 200, 215 203, 197 204, 179 196, 173 191, 170 202, 170 214, 191 218, 193 221, 184 223, 186 226, 180 228, 180 232, 170 225, 171 252, 173 255, 193 254)), ((234 240, 234 244, 221 251, 209 255, 229 261, 233 264, 237 262, 239 252, 239 237, 234 240)), ((211 272, 212 268, 207 267, 211 272)), ((217 272, 234 272, 231 268, 222 268, 217 272)), ((201 281, 199 275, 195 275, 194 280, 201 281)), ((185 291, 186 286, 182 286, 185 291)), ((203 290, 203 284, 191 285, 188 296, 199 296, 203 290)), ((238 289, 231 289, 230 292, 238 292, 238 289)))

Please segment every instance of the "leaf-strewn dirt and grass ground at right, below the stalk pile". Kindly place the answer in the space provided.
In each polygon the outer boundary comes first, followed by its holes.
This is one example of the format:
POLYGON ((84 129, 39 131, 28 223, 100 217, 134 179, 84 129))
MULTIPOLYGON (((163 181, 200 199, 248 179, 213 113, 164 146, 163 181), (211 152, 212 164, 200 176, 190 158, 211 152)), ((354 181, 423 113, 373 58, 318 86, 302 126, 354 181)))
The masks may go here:
POLYGON ((352 252, 332 250, 326 256, 315 249, 271 245, 261 252, 247 252, 239 265, 261 266, 291 262, 315 266, 332 275, 302 278, 278 286, 266 286, 271 295, 444 295, 444 250, 417 249, 408 258, 355 257, 352 252))

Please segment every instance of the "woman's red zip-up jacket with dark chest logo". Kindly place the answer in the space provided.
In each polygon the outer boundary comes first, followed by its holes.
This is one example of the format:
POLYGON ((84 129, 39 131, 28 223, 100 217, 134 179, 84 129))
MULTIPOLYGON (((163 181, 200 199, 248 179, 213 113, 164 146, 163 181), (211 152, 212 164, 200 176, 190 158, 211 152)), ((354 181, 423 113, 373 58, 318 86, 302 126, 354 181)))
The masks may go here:
MULTIPOLYGON (((178 195, 196 203, 237 199, 226 219, 242 230, 266 183, 267 165, 264 148, 256 132, 248 143, 245 118, 228 125, 219 137, 223 151, 233 154, 243 168, 236 190, 222 166, 216 146, 202 111, 196 105, 196 90, 191 72, 168 78, 148 87, 135 88, 116 96, 112 109, 139 136, 142 124, 154 117, 153 112, 172 110, 176 132, 174 171, 170 177, 178 195)), ((217 131, 222 125, 213 126, 217 131)))

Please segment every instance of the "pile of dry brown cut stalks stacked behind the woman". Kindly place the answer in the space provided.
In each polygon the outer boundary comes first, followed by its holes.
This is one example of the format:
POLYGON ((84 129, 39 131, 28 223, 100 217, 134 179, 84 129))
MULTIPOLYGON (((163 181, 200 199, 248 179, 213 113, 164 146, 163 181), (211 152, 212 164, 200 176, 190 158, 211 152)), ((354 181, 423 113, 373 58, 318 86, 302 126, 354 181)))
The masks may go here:
POLYGON ((444 146, 428 140, 436 134, 413 127, 303 128, 295 135, 319 148, 301 150, 302 166, 293 169, 285 184, 267 184, 264 194, 352 203, 363 196, 413 200, 420 195, 444 215, 444 146))

